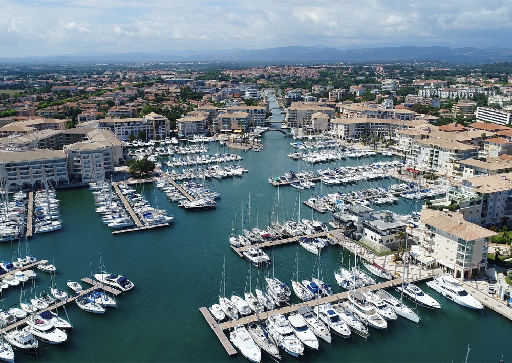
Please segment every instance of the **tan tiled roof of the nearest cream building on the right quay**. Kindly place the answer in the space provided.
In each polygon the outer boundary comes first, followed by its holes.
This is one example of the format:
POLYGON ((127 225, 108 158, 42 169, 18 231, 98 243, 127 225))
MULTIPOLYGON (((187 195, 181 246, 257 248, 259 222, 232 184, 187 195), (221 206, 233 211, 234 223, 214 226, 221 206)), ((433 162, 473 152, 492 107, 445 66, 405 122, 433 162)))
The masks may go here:
POLYGON ((438 230, 451 234, 452 236, 462 238, 465 241, 492 237, 498 234, 479 225, 443 214, 422 221, 425 224, 431 225, 438 230))

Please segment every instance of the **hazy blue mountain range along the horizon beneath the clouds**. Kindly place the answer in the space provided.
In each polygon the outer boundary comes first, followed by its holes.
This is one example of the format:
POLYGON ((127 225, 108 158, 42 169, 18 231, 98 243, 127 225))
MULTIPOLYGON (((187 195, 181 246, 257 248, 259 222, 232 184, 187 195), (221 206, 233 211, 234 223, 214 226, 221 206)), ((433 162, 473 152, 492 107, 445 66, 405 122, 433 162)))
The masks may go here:
POLYGON ((267 49, 225 49, 218 51, 162 50, 157 52, 80 52, 42 57, 0 57, 3 62, 368 62, 368 61, 447 61, 492 63, 512 61, 512 48, 474 47, 374 47, 351 48, 326 46, 289 46, 267 49))

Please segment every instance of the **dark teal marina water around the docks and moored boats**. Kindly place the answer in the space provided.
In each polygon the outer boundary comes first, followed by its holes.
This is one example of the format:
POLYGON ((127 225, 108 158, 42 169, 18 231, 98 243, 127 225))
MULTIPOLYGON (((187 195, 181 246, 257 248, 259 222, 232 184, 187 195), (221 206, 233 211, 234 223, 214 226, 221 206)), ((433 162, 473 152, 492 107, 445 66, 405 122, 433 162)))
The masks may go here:
MULTIPOLYGON (((119 308, 109 308, 104 315, 90 314, 74 303, 68 304, 67 313, 74 328, 66 344, 40 343, 39 357, 16 352, 16 361, 246 362, 241 354, 233 357, 226 354, 199 307, 218 302, 224 256, 226 294, 244 293, 249 265, 229 248, 228 237, 235 215, 239 223, 242 208, 245 215, 249 193, 251 226, 257 216, 263 226, 276 203, 277 188, 268 183, 269 174, 282 175, 290 170, 307 168, 300 161, 286 157, 294 150, 289 146, 291 138, 284 138, 278 132, 267 132, 261 139, 265 145, 261 152, 230 150, 243 156, 244 160, 239 163, 249 172, 241 178, 216 180, 222 197, 215 210, 186 212, 176 203, 170 203, 161 191, 154 191, 152 185, 144 185, 142 191, 149 200, 153 201, 156 194, 159 208, 166 208, 169 214, 175 215, 172 225, 166 228, 113 236, 111 229, 95 213, 94 199, 87 188, 59 190, 63 229, 29 239, 31 253, 40 259, 54 261, 57 283, 66 288, 67 281, 79 281, 91 274, 89 259, 92 269, 98 268, 101 252, 106 269, 128 277, 135 288, 121 294, 119 308)), ((209 146, 211 153, 217 152, 215 144, 209 146)), ((380 158, 373 157, 372 161, 380 158)), ((361 160, 342 163, 357 164, 361 160)), ((354 188, 364 187, 370 185, 360 184, 354 188)), ((330 192, 325 186, 322 191, 320 188, 318 183, 317 190, 303 191, 301 200, 312 194, 330 192)), ((296 189, 280 188, 281 221, 286 215, 292 218, 294 210, 295 214, 298 212, 296 200, 296 189)), ((392 208, 397 213, 407 213, 411 208, 410 201, 401 199, 392 208)), ((311 215, 311 209, 301 205, 301 217, 311 215)), ((319 218, 327 221, 329 217, 327 213, 319 218)), ((25 248, 24 241, 22 246, 25 248)), ((17 251, 17 243, 12 249, 17 251)), ((271 256, 274 261, 271 273, 282 281, 289 281, 296 251, 293 244, 276 248, 271 256)), ((0 254, 4 260, 10 259, 11 244, 0 245, 0 254)), ((340 247, 329 246, 322 261, 324 279, 332 283, 335 292, 340 292, 333 275, 339 256, 340 247)), ((299 258, 301 279, 310 277, 313 272, 316 274, 314 255, 301 249, 299 258)), ((348 258, 347 254, 345 263, 348 258)), ((48 290, 51 285, 49 275, 36 272, 37 293, 48 290)), ((371 329, 367 341, 359 336, 347 340, 335 336, 331 345, 321 342, 317 352, 306 350, 304 356, 296 360, 283 353, 283 361, 462 362, 468 345, 471 348, 468 361, 496 362, 501 353, 505 353, 505 361, 511 359, 508 335, 512 331, 512 322, 488 309, 482 312, 462 308, 429 290, 424 283, 420 287, 438 299, 443 308, 440 311, 420 308, 422 320, 419 324, 399 319, 389 324, 386 330, 371 329)), ((26 286, 27 298, 30 293, 30 286, 26 286)), ((20 289, 10 287, 3 291, 3 299, 6 308, 18 303, 20 289)), ((263 355, 262 361, 271 360, 263 355)))

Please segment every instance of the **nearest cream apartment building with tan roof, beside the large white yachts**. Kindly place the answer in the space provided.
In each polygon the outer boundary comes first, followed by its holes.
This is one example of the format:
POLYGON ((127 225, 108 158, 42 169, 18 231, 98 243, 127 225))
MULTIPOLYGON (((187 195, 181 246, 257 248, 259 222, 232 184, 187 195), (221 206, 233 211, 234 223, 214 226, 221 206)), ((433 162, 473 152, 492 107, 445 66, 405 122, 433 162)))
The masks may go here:
POLYGON ((489 240, 496 232, 450 214, 421 220, 426 238, 431 238, 439 268, 461 280, 486 270, 489 240))

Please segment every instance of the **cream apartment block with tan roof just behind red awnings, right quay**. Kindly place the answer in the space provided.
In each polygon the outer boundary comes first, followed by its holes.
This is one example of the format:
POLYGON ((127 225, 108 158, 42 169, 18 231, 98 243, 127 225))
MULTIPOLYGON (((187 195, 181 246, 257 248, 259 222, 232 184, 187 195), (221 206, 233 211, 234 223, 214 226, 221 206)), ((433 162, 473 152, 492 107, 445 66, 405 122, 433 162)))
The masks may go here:
POLYGON ((479 146, 466 145, 458 141, 429 138, 414 142, 417 148, 417 169, 440 171, 443 175, 452 177, 457 169, 454 165, 459 160, 476 158, 479 146))

